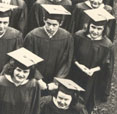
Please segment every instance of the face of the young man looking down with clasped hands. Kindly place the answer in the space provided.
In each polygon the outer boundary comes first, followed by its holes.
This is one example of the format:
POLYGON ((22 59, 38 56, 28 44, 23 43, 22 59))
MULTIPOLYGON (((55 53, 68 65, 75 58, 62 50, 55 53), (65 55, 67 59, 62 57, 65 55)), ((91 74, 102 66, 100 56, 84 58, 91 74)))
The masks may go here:
POLYGON ((44 22, 45 22, 45 28, 50 34, 54 34, 59 29, 60 24, 57 20, 48 18, 44 22))

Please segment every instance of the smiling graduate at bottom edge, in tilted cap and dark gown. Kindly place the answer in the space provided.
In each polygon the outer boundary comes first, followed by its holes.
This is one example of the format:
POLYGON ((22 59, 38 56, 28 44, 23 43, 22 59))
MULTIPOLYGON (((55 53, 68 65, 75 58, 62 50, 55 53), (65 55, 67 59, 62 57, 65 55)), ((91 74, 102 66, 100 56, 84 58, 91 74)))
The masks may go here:
POLYGON ((40 100, 40 114, 88 114, 79 96, 83 88, 69 79, 55 78, 55 83, 58 88, 53 94, 40 100))

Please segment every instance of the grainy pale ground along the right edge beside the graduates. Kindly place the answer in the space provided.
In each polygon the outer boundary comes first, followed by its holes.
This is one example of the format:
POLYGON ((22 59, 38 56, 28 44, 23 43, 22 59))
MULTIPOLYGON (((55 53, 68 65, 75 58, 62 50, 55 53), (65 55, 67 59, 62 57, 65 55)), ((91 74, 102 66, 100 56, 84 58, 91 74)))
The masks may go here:
POLYGON ((112 78, 111 93, 107 103, 101 104, 94 114, 117 114, 117 0, 114 2, 114 11, 116 17, 116 35, 114 41, 115 67, 112 78))

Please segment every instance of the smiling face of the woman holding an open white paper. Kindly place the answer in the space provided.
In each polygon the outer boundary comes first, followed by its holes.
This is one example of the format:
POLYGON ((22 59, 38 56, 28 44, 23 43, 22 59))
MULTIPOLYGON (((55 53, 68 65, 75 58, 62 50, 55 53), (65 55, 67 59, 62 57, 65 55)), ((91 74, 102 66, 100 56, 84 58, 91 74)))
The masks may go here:
POLYGON ((91 36, 92 39, 97 39, 99 38, 100 36, 102 36, 102 33, 104 31, 104 26, 97 26, 97 25, 94 25, 94 24, 90 24, 89 26, 89 34, 91 36))

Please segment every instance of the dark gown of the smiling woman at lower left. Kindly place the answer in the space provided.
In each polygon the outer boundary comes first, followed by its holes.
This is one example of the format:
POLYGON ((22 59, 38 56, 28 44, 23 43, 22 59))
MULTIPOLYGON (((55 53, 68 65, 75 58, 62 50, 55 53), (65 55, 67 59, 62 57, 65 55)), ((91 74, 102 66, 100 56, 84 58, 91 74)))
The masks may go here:
POLYGON ((15 86, 0 76, 0 114, 40 114, 40 87, 35 79, 15 86))

